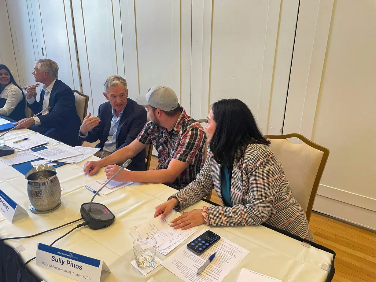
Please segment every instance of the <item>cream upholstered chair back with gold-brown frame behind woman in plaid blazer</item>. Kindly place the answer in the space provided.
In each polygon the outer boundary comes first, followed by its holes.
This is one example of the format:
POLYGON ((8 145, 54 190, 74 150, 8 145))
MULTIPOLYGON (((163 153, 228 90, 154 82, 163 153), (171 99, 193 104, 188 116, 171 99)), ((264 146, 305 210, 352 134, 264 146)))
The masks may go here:
POLYGON ((329 150, 298 133, 265 135, 264 138, 270 140, 270 149, 279 159, 290 182, 292 195, 306 212, 309 222, 329 150), (303 143, 294 144, 287 140, 292 137, 303 143))

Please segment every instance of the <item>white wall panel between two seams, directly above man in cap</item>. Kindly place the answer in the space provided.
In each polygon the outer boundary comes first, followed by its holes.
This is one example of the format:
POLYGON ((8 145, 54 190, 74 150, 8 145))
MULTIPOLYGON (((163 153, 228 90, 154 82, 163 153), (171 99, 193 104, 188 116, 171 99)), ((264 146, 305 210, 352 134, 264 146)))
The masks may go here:
POLYGON ((191 1, 121 1, 129 97, 153 85, 174 89, 190 110, 191 1))

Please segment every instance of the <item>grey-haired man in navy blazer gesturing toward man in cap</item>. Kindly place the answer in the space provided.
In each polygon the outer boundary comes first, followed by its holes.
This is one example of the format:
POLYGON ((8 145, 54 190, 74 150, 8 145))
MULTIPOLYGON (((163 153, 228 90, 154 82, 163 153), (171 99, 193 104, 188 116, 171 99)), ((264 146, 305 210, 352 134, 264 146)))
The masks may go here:
MULTIPOLYGON (((81 141, 92 143, 99 139, 96 147, 100 150, 95 154, 99 158, 132 143, 147 122, 146 109, 128 98, 129 89, 123 77, 108 77, 103 88, 103 96, 108 102, 99 106, 98 117, 90 117, 89 113, 84 118, 78 134, 81 141)), ((145 150, 132 158, 128 168, 132 171, 146 170, 145 150)))

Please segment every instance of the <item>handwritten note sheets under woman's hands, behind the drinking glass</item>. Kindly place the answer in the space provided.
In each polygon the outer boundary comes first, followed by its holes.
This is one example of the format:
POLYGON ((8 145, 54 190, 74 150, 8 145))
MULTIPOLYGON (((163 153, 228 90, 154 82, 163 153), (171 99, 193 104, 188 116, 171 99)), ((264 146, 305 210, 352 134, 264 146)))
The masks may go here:
POLYGON ((154 237, 157 241, 158 252, 167 255, 171 250, 182 243, 186 238, 196 232, 197 227, 186 230, 173 229, 170 227, 171 221, 179 217, 180 214, 172 211, 165 219, 156 217, 140 226, 131 227, 130 234, 133 239, 138 239, 139 246, 146 250, 150 247, 150 237, 154 237))

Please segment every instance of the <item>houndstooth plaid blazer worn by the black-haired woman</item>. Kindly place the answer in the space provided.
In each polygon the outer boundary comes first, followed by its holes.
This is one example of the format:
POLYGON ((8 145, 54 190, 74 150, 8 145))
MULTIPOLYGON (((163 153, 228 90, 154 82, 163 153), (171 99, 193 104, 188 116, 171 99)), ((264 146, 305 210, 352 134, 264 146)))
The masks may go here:
MULTIPOLYGON (((238 149, 232 169, 230 198, 233 207, 208 207, 209 224, 248 226, 265 222, 313 241, 305 212, 291 195, 287 177, 274 153, 262 144, 249 144, 243 157, 236 161, 240 153, 238 149)), ((208 146, 208 156, 196 180, 171 196, 179 201, 175 209, 180 211, 193 205, 213 188, 223 203, 221 165, 214 160, 208 146)))

